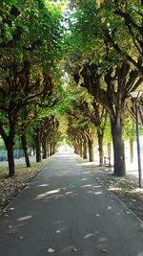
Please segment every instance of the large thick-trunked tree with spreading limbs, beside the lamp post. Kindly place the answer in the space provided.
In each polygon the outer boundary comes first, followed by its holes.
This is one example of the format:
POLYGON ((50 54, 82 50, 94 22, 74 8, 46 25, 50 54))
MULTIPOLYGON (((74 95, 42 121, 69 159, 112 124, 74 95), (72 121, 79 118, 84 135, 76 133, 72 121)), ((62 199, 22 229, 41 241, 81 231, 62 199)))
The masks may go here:
MULTIPOLYGON (((123 20, 113 19, 114 9, 109 8, 113 4, 109 5, 107 10, 105 8, 107 1, 101 8, 97 8, 92 1, 78 4, 76 12, 72 12, 74 22, 71 21, 73 47, 70 56, 73 53, 74 57, 71 58, 74 61, 72 72, 74 77, 76 75, 78 85, 86 87, 94 100, 106 107, 112 126, 114 175, 125 175, 123 139, 125 103, 129 93, 141 84, 143 78, 140 68, 135 69, 133 63, 131 64, 132 61, 129 62, 123 52, 116 54, 116 49, 108 40, 107 35, 112 35, 114 32, 115 38, 122 46, 119 36, 125 29, 123 20), (79 46, 80 51, 77 54, 79 46)), ((125 33, 127 34, 124 44, 128 48, 130 34, 127 29, 125 33)), ((134 58, 133 51, 136 53, 132 48, 130 54, 134 58)))

